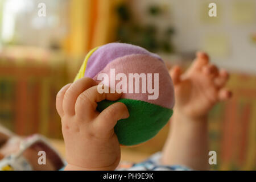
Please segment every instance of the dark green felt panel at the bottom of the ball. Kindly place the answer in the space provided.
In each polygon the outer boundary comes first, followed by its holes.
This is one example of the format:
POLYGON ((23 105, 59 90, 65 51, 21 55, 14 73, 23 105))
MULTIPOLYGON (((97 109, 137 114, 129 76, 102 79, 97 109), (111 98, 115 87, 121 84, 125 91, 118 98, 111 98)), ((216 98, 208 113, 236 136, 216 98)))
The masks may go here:
POLYGON ((130 117, 121 119, 115 125, 119 143, 125 146, 146 142, 153 138, 167 124, 172 109, 139 100, 122 98, 118 101, 101 101, 97 110, 102 111, 115 102, 122 102, 129 110, 130 117))

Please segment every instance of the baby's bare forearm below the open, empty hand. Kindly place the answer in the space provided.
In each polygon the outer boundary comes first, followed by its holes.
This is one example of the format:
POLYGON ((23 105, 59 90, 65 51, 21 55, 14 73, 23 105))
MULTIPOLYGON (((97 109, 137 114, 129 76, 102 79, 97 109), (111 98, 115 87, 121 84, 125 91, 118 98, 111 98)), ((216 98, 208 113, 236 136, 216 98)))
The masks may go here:
POLYGON ((163 164, 209 169, 207 116, 191 119, 177 113, 176 109, 174 112, 163 150, 163 164))

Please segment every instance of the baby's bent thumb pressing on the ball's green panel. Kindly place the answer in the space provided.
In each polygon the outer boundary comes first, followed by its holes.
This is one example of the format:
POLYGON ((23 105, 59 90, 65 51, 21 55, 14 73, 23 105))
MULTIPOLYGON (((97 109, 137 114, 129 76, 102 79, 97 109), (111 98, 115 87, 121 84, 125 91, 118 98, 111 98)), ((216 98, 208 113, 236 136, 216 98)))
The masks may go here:
POLYGON ((94 122, 98 134, 107 134, 114 128, 117 121, 129 117, 129 111, 125 104, 116 102, 104 109, 94 122))

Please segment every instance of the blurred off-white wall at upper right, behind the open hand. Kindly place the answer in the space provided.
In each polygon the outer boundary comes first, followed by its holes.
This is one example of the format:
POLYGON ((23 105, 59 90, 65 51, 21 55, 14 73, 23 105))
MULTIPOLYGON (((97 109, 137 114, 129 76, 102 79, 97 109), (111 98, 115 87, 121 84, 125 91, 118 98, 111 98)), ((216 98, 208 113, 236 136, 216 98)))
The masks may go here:
MULTIPOLYGON (((208 7, 205 8, 208 11, 208 7)), ((250 35, 256 34, 256 0, 133 0, 133 9, 137 19, 143 23, 154 22, 159 27, 172 24, 177 31, 172 39, 177 52, 206 50, 214 64, 229 70, 256 74, 256 43, 250 40, 250 35), (217 23, 201 20, 203 5, 210 2, 217 3, 217 23), (253 14, 249 11, 243 14, 253 15, 253 20, 242 23, 233 20, 236 2, 249 2, 253 6, 253 14), (150 18, 145 12, 148 5, 155 3, 168 9, 169 13, 160 19, 150 18), (217 37, 214 45, 215 48, 220 48, 218 51, 221 53, 211 51, 209 46, 205 46, 209 45, 208 39, 211 36, 217 37)), ((239 9, 235 14, 238 18, 241 11, 239 9)))

